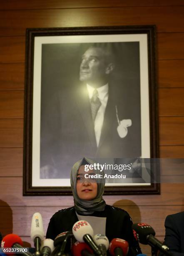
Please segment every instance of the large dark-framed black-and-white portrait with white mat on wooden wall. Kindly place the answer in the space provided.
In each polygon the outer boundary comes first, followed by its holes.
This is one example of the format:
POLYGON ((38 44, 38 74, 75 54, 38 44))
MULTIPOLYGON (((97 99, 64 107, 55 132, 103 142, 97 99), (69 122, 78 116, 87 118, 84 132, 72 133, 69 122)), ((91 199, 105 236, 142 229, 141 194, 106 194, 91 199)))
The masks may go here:
POLYGON ((155 30, 27 28, 23 195, 72 195, 83 158, 106 195, 159 193, 155 30))

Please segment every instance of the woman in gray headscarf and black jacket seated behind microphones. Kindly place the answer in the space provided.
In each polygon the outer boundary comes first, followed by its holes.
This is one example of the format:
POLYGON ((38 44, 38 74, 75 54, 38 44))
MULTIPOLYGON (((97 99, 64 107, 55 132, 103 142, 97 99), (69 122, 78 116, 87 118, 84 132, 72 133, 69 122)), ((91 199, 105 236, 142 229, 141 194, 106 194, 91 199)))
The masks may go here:
MULTIPOLYGON (((46 238, 55 237, 65 231, 72 231, 78 220, 86 220, 94 230, 94 234, 104 234, 109 239, 122 238, 129 243, 134 255, 141 253, 138 242, 132 232, 132 220, 129 214, 117 207, 106 205, 102 198, 104 193, 104 172, 92 169, 85 172, 85 165, 94 165, 94 161, 83 158, 74 164, 70 174, 70 182, 74 197, 74 207, 56 212, 50 219, 46 238), (85 178, 85 174, 97 174, 97 179, 85 178)), ((132 255, 129 250, 128 255, 132 255)))

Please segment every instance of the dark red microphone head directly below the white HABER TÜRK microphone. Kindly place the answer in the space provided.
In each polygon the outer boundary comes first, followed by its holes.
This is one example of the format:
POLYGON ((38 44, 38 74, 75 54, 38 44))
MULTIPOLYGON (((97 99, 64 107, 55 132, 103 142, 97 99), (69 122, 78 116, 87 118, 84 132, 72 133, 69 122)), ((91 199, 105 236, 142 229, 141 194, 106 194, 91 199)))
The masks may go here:
POLYGON ((81 243, 79 241, 72 245, 72 255, 74 256, 92 256, 93 251, 87 243, 81 243))

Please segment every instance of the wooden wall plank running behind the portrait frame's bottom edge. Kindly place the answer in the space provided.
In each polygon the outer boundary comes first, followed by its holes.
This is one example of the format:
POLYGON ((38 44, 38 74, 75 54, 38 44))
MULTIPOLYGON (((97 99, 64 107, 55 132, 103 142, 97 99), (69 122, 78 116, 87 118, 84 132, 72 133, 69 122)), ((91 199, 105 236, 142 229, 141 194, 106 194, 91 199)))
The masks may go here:
MULTIPOLYGON (((23 197, 22 177, 0 177, 1 200, 10 206, 65 206, 73 205, 72 196, 23 197)), ((184 205, 184 184, 161 184, 161 195, 116 195, 104 196, 109 205, 184 205), (127 201, 126 201, 127 200, 127 201)), ((0 202, 1 205, 1 202, 0 202)))

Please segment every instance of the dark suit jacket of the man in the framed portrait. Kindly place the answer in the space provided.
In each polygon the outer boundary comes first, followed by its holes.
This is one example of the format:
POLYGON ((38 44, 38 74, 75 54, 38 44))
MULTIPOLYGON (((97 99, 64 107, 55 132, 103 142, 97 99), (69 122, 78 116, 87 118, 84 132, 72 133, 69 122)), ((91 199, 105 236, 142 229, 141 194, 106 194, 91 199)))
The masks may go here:
POLYGON ((41 166, 55 166, 56 178, 65 178, 69 177, 72 165, 83 157, 113 159, 141 156, 140 106, 136 105, 135 100, 139 96, 129 91, 124 87, 120 92, 109 85, 97 147, 86 85, 62 88, 42 113, 41 166), (132 120, 125 138, 120 138, 117 132, 116 106, 119 120, 132 120))

